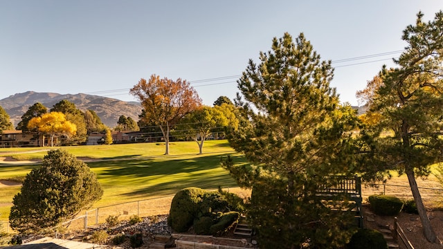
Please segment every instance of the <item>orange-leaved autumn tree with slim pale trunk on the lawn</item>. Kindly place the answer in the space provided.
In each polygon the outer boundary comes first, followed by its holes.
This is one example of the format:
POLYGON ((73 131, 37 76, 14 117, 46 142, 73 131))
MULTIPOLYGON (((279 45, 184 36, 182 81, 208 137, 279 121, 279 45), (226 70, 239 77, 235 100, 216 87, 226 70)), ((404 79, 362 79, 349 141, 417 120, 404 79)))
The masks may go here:
POLYGON ((145 122, 158 125, 165 140, 165 155, 169 155, 169 134, 174 124, 183 116, 201 106, 201 99, 186 80, 163 79, 151 75, 141 79, 130 91, 145 109, 145 122))

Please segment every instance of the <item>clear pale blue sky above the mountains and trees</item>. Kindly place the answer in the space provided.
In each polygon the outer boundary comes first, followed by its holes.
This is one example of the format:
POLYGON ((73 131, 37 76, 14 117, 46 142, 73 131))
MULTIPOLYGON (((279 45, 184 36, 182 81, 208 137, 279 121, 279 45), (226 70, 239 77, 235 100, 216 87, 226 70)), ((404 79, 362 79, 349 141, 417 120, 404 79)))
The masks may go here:
POLYGON ((156 74, 190 81, 212 105, 233 99, 248 59, 289 32, 332 60, 332 86, 356 105, 355 92, 406 46, 401 33, 417 12, 428 20, 442 9, 441 0, 0 0, 0 100, 37 91, 129 101, 156 74))

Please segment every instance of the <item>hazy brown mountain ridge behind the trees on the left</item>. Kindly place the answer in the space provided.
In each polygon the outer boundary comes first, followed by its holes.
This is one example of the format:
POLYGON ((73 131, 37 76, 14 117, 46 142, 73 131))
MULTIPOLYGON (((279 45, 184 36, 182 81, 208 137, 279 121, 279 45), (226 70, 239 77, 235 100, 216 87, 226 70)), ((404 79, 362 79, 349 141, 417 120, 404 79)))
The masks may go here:
POLYGON ((84 93, 62 95, 59 93, 36 93, 34 91, 10 95, 8 98, 0 100, 0 106, 6 110, 11 122, 16 126, 20 122, 21 116, 33 104, 39 102, 47 107, 49 111, 54 104, 61 100, 73 102, 82 111, 95 111, 102 122, 111 128, 116 127, 118 118, 122 115, 137 121, 142 110, 138 102, 125 102, 84 93))

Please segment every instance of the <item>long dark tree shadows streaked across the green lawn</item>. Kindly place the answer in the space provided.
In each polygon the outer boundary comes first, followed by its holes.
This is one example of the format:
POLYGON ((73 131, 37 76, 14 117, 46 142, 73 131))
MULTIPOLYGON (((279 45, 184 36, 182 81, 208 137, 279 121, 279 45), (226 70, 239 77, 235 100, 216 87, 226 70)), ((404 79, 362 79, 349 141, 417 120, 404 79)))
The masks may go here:
MULTIPOLYGON (((233 156, 242 158, 241 156, 233 156)), ((229 172, 221 168, 220 155, 190 156, 187 159, 152 158, 145 160, 102 161, 90 164, 98 178, 122 187, 138 185, 123 196, 170 195, 186 187, 215 189, 237 187, 229 172)))

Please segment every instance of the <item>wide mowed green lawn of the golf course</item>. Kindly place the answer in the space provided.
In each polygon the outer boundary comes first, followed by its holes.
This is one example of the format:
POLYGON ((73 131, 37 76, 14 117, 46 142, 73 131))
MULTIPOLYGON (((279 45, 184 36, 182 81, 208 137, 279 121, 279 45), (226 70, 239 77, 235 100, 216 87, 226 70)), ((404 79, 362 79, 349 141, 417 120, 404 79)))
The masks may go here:
MULTIPOLYGON (((97 174, 104 189, 102 199, 93 207, 170 196, 185 187, 237 187, 237 183, 221 167, 220 158, 230 155, 235 157, 237 162, 246 163, 244 157, 236 154, 226 140, 206 141, 202 155, 197 155, 196 142, 172 142, 169 156, 163 155, 164 144, 156 143, 62 149, 78 157, 105 159, 87 163, 97 174)), ((2 151, 3 149, 0 149, 0 152, 2 151)), ((27 153, 30 151, 33 149, 27 148, 20 151, 25 152, 24 154, 10 156, 26 156, 26 160, 40 158, 42 151, 27 153)), ((14 150, 8 149, 8 152, 12 153, 14 150)), ((0 165, 0 179, 24 177, 34 167, 39 166, 0 165)), ((0 188, 0 221, 8 219, 12 198, 19 190, 20 187, 0 188)))

